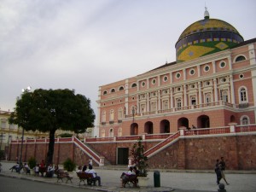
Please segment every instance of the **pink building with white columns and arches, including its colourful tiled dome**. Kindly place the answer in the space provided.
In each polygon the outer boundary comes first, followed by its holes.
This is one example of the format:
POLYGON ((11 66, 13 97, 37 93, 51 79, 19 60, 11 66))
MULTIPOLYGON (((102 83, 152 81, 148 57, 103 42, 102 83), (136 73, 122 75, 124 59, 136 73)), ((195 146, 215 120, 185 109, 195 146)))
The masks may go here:
POLYGON ((177 41, 177 61, 100 86, 99 137, 255 124, 256 38, 243 41, 229 27, 206 11, 177 41))

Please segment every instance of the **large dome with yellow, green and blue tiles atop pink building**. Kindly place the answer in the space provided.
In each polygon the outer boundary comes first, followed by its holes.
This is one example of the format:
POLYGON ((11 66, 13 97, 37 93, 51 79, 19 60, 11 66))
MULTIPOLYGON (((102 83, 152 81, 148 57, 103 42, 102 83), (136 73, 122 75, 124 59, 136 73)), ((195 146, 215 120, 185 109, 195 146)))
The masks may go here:
POLYGON ((206 9, 205 19, 188 26, 177 40, 177 62, 189 61, 224 49, 230 49, 243 42, 234 26, 224 20, 210 19, 206 9))

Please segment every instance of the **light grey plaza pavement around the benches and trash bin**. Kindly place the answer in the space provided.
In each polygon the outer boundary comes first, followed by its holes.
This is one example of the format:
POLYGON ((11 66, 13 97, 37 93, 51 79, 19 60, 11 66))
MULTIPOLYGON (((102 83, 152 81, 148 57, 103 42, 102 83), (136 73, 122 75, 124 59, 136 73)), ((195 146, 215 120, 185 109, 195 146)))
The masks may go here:
MULTIPOLYGON (((15 165, 15 162, 1 161, 3 177, 17 177, 21 179, 29 179, 37 182, 55 183, 79 187, 79 178, 75 172, 73 174, 73 183, 64 182, 57 183, 57 178, 35 177, 26 175, 25 173, 11 172, 9 168, 15 165)), ((99 191, 141 191, 141 192, 156 192, 156 191, 175 191, 175 192, 216 192, 218 185, 216 183, 216 175, 213 170, 210 171, 177 171, 177 170, 157 170, 160 172, 160 187, 154 187, 154 170, 148 172, 149 182, 147 188, 133 188, 127 186, 120 187, 120 174, 126 171, 125 166, 103 166, 94 167, 97 175, 102 177, 102 187, 88 186, 81 184, 80 188, 96 189, 99 191)), ((1 177, 0 177, 1 179, 1 177)), ((256 171, 226 171, 226 179, 230 185, 225 185, 227 192, 255 192, 256 191, 256 171)), ((221 181, 224 183, 224 181, 221 181)))

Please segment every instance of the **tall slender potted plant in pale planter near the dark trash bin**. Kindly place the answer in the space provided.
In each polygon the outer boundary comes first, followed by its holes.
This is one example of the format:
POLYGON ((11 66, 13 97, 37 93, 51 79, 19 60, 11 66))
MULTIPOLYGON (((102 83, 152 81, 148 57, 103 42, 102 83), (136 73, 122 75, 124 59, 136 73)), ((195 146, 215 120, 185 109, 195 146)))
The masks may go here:
POLYGON ((142 143, 143 138, 139 137, 138 142, 134 143, 131 148, 131 155, 133 157, 133 163, 137 166, 139 171, 138 180, 140 186, 148 186, 148 157, 144 155, 144 145, 142 143))

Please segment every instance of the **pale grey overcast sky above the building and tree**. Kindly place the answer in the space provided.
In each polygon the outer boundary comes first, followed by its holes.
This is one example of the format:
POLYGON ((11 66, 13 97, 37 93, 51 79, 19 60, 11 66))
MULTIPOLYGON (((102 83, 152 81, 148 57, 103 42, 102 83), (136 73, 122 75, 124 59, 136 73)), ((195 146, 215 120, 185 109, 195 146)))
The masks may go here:
POLYGON ((175 61, 183 30, 210 18, 256 38, 255 0, 0 0, 0 108, 13 111, 27 86, 98 88, 175 61))

